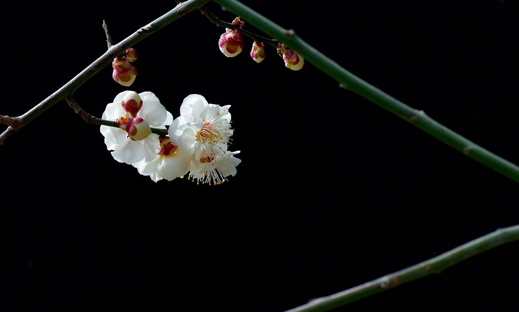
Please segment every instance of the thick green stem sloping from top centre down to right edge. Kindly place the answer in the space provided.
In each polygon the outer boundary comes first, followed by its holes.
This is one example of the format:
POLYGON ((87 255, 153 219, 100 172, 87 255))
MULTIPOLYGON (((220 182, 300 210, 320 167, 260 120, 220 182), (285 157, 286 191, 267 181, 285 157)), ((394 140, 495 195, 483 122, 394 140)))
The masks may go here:
POLYGON ((240 16, 245 22, 252 24, 265 34, 272 38, 276 38, 280 42, 286 44, 286 46, 294 49, 298 54, 301 54, 305 58, 305 61, 312 63, 328 76, 337 80, 348 90, 359 94, 378 106, 403 118, 405 121, 426 131, 436 139, 454 147, 456 150, 472 159, 481 162, 481 164, 494 169, 515 182, 519 182, 519 167, 460 136, 458 133, 427 116, 423 111, 417 111, 408 107, 401 101, 353 75, 351 72, 347 71, 339 64, 330 60, 330 58, 326 57, 324 54, 303 41, 295 35, 294 32, 282 28, 236 0, 214 0, 214 2, 225 7, 226 10, 233 12, 237 16, 240 16))

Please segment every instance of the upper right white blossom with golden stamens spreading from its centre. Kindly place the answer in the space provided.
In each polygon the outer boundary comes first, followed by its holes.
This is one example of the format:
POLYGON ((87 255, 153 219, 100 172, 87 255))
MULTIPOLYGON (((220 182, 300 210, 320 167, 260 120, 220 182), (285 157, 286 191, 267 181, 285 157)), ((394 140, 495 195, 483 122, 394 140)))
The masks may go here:
POLYGON ((223 156, 234 130, 231 129, 230 105, 209 104, 198 94, 187 96, 180 107, 180 117, 173 121, 169 135, 177 141, 180 151, 192 153, 198 167, 202 152, 209 157, 223 156))

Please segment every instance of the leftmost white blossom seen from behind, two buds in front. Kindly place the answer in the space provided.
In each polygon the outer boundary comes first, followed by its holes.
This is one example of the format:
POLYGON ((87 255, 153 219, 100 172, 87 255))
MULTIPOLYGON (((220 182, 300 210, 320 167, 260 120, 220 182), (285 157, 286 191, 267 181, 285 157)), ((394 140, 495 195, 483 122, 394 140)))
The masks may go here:
POLYGON ((113 150, 112 156, 117 161, 134 164, 143 159, 152 161, 155 158, 158 136, 149 134, 151 130, 148 131, 148 128, 165 129, 164 125, 171 124, 173 116, 155 94, 143 92, 137 95, 133 91, 124 91, 115 97, 113 103, 108 103, 103 119, 117 121, 121 127, 101 126, 107 150, 113 150), (142 99, 142 103, 139 103, 139 99, 142 99))

